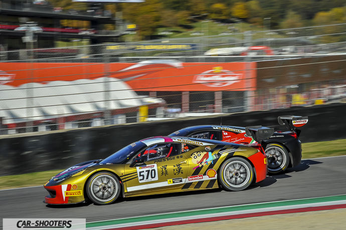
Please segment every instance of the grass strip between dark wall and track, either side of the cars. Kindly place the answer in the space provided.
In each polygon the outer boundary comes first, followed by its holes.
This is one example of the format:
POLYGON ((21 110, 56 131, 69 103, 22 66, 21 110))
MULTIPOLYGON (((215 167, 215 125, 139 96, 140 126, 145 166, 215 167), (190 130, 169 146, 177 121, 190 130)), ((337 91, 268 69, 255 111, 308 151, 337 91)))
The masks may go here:
MULTIPOLYGON (((346 155, 346 139, 303 143, 303 159, 346 155)), ((14 176, 0 176, 0 189, 43 185, 60 170, 35 172, 14 176)))

